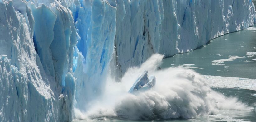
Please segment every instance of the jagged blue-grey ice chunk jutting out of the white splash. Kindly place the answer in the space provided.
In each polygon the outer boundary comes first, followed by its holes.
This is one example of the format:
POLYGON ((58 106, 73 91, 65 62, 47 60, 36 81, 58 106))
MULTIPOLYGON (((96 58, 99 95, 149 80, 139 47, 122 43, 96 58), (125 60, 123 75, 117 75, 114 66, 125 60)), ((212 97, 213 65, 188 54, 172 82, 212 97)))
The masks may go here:
POLYGON ((155 82, 155 76, 149 77, 148 71, 144 71, 142 75, 135 81, 135 83, 129 90, 129 93, 151 89, 155 86, 155 82))

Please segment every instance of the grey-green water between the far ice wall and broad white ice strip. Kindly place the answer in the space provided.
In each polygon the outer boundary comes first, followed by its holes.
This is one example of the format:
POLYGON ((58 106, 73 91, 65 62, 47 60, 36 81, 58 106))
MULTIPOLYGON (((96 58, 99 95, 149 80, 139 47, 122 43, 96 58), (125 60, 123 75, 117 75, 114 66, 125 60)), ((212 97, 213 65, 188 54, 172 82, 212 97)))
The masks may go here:
POLYGON ((196 50, 165 58, 162 68, 183 65, 194 67, 202 75, 256 79, 255 27, 220 36, 196 50))

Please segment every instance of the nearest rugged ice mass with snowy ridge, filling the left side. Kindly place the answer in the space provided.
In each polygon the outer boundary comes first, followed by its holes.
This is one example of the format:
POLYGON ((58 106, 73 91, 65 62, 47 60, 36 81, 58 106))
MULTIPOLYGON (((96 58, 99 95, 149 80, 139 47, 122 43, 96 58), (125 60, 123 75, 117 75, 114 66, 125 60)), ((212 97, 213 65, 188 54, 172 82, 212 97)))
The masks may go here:
POLYGON ((72 120, 73 16, 38 2, 0 1, 0 121, 72 120))

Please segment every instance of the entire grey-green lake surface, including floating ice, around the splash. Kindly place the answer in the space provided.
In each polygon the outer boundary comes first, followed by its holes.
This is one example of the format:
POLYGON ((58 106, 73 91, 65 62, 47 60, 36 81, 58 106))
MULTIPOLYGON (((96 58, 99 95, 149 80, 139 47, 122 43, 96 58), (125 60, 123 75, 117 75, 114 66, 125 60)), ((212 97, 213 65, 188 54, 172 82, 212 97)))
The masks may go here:
MULTIPOLYGON (((237 97, 248 110, 219 110, 213 115, 194 119, 154 120, 167 122, 256 122, 256 26, 229 33, 207 45, 184 54, 163 59, 161 68, 189 68, 211 81, 212 89, 225 96, 237 97), (254 60, 255 59, 255 60, 254 60)), ((75 122, 113 121, 119 118, 74 120, 75 122)), ((136 122, 136 121, 132 121, 136 122)))

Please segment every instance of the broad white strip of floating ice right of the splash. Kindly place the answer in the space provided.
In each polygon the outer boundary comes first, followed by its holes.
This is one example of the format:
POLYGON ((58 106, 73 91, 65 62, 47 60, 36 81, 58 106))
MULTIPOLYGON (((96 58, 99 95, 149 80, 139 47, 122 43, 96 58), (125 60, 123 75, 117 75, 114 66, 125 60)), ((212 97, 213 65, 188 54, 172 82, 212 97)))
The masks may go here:
POLYGON ((256 90, 256 79, 204 75, 210 86, 216 88, 242 88, 256 90))

